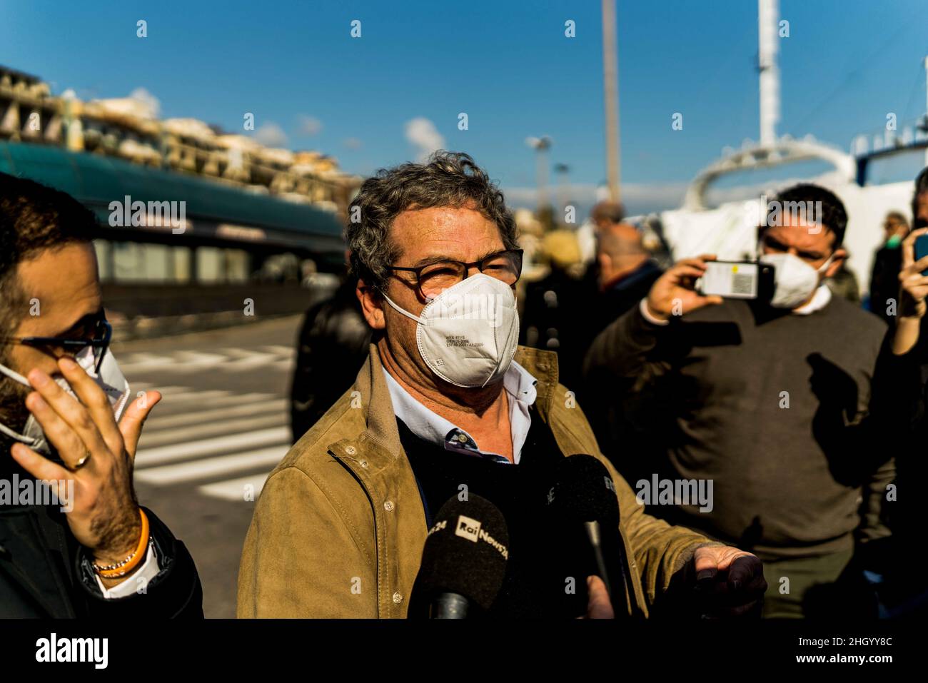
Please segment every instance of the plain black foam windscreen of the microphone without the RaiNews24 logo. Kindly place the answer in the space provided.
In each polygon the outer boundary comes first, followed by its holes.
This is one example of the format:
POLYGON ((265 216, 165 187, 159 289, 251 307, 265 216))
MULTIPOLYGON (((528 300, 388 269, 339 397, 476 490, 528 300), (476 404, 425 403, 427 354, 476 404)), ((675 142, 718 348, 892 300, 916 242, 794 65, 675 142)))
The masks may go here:
POLYGON ((619 523, 619 502, 609 470, 593 456, 564 457, 548 489, 548 509, 563 520, 619 523))

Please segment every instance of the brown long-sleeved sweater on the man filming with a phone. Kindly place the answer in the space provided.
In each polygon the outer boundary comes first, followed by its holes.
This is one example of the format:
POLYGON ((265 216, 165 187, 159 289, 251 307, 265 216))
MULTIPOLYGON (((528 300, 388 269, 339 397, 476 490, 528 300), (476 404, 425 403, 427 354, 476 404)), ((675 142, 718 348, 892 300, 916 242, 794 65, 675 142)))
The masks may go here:
MULTIPOLYGON (((611 373, 620 395, 650 388, 650 472, 713 480, 711 512, 651 514, 762 559, 822 555, 850 548, 858 527, 863 540, 888 535, 895 465, 870 410, 884 331, 838 297, 808 316, 726 300, 664 327, 635 307, 599 335, 586 371, 611 373)), ((642 474, 626 479, 638 490, 642 474)))

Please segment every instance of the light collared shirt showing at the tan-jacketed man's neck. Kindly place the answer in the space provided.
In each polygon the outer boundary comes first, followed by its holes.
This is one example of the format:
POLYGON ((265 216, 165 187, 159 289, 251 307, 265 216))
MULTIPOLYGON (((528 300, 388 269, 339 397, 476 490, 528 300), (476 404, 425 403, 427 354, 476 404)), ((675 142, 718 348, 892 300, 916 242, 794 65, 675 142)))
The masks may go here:
MULTIPOLYGON (((409 428, 423 441, 430 444, 441 445, 445 450, 463 453, 469 456, 485 457, 494 462, 509 465, 509 458, 496 453, 480 450, 477 442, 468 432, 456 427, 453 423, 432 410, 423 406, 406 391, 400 383, 393 379, 393 375, 383 368, 383 376, 387 378, 387 388, 393 401, 393 413, 402 419, 409 428)), ((522 446, 528 436, 528 428, 532 425, 528 408, 535 403, 537 380, 529 374, 524 367, 512 361, 509 369, 503 376, 503 389, 509 393, 509 426, 512 432, 512 457, 514 464, 518 465, 522 457, 522 446)))

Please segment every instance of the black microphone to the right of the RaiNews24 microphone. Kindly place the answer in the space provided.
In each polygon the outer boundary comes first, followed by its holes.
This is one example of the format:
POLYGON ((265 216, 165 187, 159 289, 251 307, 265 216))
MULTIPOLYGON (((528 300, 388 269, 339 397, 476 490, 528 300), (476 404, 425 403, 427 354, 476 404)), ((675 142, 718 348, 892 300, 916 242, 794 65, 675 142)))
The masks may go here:
MULTIPOLYGON (((625 613, 625 548, 619 535, 619 502, 615 484, 599 460, 592 456, 564 457, 555 468, 555 483, 548 489, 548 510, 561 527, 572 530, 565 542, 573 541, 576 552, 565 553, 579 561, 584 582, 598 575, 606 585, 616 615, 625 613), (577 534, 581 531, 581 534, 577 534), (579 536, 579 538, 578 538, 579 536), (621 600, 616 604, 615 600, 621 600)), ((570 547, 570 546, 568 546, 570 547)), ((629 588, 629 595, 634 595, 629 588)), ((586 604, 575 604, 574 609, 586 604)))

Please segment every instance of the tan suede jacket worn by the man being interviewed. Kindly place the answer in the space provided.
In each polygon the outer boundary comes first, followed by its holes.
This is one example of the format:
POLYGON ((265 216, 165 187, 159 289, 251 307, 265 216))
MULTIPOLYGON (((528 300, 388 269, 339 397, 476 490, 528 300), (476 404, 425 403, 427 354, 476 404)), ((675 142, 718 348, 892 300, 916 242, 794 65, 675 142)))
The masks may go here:
MULTIPOLYGON (((558 383, 557 354, 520 347, 515 360, 538 380, 538 416, 564 456, 592 455, 612 474, 635 600, 647 614, 708 539, 645 514, 558 383)), ((238 617, 403 618, 426 532, 419 487, 371 344, 352 389, 264 484, 238 570, 238 617)))

